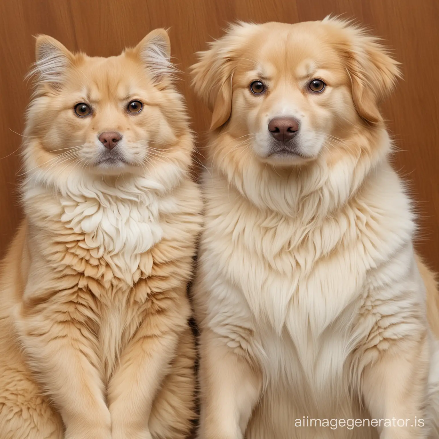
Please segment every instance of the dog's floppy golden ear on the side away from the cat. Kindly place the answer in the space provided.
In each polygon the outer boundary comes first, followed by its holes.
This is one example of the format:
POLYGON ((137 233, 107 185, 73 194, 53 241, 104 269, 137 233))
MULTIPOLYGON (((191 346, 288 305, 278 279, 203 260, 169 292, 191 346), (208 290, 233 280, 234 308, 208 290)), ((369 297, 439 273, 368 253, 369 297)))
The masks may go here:
POLYGON ((337 18, 325 18, 324 21, 338 26, 348 37, 342 52, 352 83, 356 111, 371 124, 381 122, 379 105, 402 76, 399 62, 389 56, 379 38, 369 35, 359 26, 337 18))

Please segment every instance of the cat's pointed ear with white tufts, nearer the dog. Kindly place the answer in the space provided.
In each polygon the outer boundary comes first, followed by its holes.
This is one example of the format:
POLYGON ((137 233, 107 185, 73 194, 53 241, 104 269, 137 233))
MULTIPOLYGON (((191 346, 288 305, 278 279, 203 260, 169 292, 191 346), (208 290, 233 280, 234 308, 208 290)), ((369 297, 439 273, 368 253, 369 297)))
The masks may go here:
POLYGON ((171 43, 165 29, 155 29, 148 33, 134 48, 154 83, 172 80, 177 72, 171 62, 171 43))

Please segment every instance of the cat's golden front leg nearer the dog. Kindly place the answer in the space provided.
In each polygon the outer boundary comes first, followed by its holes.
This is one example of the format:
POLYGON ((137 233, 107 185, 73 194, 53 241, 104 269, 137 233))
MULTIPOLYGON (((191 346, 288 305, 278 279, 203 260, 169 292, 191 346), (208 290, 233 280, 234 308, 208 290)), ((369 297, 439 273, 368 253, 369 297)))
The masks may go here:
POLYGON ((161 293, 144 306, 141 323, 108 385, 112 439, 151 439, 153 402, 187 328, 189 303, 183 292, 180 297, 161 293))

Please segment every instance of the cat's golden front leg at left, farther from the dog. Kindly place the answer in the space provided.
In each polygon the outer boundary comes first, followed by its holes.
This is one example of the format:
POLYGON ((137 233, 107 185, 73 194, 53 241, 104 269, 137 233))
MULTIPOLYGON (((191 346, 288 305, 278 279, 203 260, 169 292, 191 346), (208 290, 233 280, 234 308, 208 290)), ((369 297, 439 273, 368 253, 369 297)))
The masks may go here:
POLYGON ((112 439, 89 293, 72 288, 30 297, 17 310, 16 329, 30 369, 61 413, 65 439, 112 439))

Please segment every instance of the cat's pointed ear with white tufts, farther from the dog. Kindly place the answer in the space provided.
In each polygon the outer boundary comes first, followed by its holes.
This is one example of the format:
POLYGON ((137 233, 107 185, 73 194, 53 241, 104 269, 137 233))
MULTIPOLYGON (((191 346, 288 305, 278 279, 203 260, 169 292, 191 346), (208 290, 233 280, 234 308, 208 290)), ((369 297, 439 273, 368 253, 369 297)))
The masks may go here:
POLYGON ((48 35, 39 35, 35 43, 35 65, 28 76, 35 76, 37 83, 62 86, 74 55, 58 40, 48 35))

